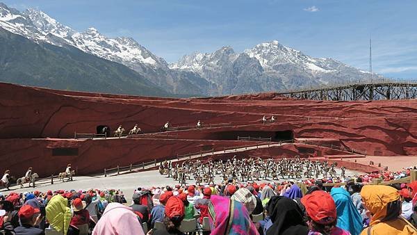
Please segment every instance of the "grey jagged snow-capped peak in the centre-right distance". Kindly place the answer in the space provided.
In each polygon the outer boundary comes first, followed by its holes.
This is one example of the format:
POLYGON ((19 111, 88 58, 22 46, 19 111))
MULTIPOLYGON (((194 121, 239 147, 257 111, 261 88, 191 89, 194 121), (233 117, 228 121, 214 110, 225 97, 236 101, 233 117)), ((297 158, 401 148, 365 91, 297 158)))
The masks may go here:
POLYGON ((331 58, 312 58, 277 40, 236 54, 231 47, 183 56, 172 70, 195 72, 218 85, 220 94, 262 92, 366 80, 368 72, 331 58))

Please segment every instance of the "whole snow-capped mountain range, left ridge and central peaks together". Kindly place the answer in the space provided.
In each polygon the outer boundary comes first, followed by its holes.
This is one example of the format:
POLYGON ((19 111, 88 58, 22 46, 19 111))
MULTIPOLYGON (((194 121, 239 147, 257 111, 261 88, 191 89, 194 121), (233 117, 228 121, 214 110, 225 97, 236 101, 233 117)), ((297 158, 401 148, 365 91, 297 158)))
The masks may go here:
POLYGON ((196 52, 168 65, 133 38, 108 38, 95 28, 80 33, 40 10, 20 13, 3 3, 0 3, 0 27, 38 44, 76 47, 120 63, 176 94, 227 95, 297 89, 369 76, 331 58, 312 58, 276 40, 243 53, 236 53, 231 47, 213 53, 196 52))

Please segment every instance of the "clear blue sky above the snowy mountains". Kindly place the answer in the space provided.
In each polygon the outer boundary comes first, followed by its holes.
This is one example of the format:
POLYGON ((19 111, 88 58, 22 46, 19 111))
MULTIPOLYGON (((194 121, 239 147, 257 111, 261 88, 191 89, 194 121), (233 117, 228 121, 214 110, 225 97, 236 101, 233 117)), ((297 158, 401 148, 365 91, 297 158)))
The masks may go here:
MULTIPOLYGON (((2 1, 2 0, 0 0, 2 1)), ((168 62, 229 45, 235 51, 278 40, 398 79, 417 79, 417 1, 387 0, 3 0, 39 8, 76 31, 130 36, 168 62)))

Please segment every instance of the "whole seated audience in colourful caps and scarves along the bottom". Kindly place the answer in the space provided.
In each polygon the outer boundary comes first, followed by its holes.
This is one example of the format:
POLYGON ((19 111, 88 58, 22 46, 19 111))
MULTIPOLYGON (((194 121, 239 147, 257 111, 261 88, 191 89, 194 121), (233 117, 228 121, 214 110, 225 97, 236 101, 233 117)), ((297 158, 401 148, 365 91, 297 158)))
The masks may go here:
MULTIPOLYGON (((117 190, 33 191, 0 195, 3 234, 417 234, 417 181, 246 182, 137 188, 127 203, 117 190), (208 224, 208 229, 207 225, 208 224), (159 226, 157 226, 159 225, 159 226)), ((379 176, 381 177, 381 176, 379 176)), ((382 177, 386 177, 382 175, 382 177)), ((390 176, 388 176, 391 178, 390 176)))

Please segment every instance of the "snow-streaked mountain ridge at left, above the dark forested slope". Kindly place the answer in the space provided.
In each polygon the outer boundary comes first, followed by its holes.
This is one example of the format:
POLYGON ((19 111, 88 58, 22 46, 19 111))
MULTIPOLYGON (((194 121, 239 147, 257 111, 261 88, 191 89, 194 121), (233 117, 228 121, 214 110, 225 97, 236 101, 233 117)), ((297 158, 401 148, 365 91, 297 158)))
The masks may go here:
POLYGON ((157 86, 177 92, 175 78, 172 78, 165 60, 152 54, 133 38, 108 38, 95 28, 79 33, 40 10, 30 8, 20 13, 3 3, 0 3, 0 26, 37 43, 76 47, 85 53, 121 63, 157 86))

